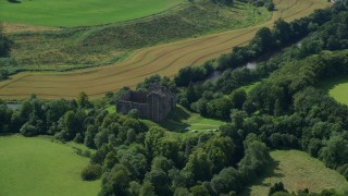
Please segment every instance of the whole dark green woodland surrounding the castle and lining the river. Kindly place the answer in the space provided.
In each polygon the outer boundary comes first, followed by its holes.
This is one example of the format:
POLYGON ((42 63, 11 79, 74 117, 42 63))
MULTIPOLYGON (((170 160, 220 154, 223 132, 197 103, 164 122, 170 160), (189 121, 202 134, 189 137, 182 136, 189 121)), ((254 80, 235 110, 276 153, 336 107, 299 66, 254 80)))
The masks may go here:
MULTIPOLYGON (((0 36, 2 48, 4 40, 0 36)), ((52 101, 33 95, 16 110, 0 101, 0 133, 51 135, 96 149, 79 152, 90 157, 82 177, 101 179, 100 196, 238 195, 272 163, 273 149, 303 150, 348 179, 348 107, 318 88, 321 81, 348 74, 347 49, 348 0, 341 0, 308 17, 261 28, 248 46, 183 69, 173 81, 154 75, 137 86, 146 89, 160 81, 177 94, 179 105, 225 121, 220 134, 173 139, 136 110, 127 115, 104 110, 126 87, 99 101, 85 93, 52 101), (273 57, 256 69, 240 68, 270 52, 273 57), (208 79, 213 71, 223 72, 216 82, 208 79), (241 88, 253 83, 248 91, 241 88)), ((276 183, 269 195, 339 195, 286 192, 276 183)))

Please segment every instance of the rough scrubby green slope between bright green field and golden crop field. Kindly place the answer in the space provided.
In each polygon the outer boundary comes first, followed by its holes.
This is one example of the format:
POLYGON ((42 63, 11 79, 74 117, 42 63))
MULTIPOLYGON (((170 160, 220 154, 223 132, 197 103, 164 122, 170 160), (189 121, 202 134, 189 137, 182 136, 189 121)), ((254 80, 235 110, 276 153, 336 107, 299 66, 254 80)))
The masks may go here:
POLYGON ((271 16, 264 8, 256 9, 246 3, 220 8, 216 15, 216 5, 208 1, 186 3, 157 17, 130 23, 15 34, 11 36, 15 42, 12 57, 18 63, 14 70, 64 71, 113 63, 135 49, 252 26, 271 16))

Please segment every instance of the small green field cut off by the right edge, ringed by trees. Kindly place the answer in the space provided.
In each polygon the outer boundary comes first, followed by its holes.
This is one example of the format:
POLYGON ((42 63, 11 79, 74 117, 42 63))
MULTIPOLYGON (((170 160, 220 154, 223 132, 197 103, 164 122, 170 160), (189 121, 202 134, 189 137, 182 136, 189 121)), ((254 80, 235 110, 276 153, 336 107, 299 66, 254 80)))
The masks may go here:
POLYGON ((320 85, 331 97, 338 102, 348 105, 348 76, 336 77, 325 81, 320 85))

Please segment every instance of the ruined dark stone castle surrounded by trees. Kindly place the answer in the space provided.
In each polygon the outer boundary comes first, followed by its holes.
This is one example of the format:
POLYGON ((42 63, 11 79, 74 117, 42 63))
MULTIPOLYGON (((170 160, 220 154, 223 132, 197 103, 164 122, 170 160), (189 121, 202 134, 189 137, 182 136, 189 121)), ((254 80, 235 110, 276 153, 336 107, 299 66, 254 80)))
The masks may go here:
POLYGON ((154 122, 165 120, 175 105, 174 94, 157 82, 148 90, 129 90, 116 101, 119 113, 127 114, 130 110, 136 109, 140 118, 154 122))

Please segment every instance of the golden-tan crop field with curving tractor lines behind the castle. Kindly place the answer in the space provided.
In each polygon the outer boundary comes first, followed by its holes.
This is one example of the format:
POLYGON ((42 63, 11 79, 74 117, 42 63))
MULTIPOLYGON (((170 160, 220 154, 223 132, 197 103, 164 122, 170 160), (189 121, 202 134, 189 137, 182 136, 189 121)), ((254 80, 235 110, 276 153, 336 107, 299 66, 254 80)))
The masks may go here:
POLYGON ((75 98, 79 91, 100 98, 105 91, 135 87, 153 74, 173 77, 182 68, 199 65, 247 44, 260 27, 272 27, 279 17, 293 21, 330 5, 324 0, 274 2, 277 11, 264 24, 140 49, 111 66, 65 73, 21 73, 0 83, 0 98, 24 99, 32 94, 45 99, 75 98))

